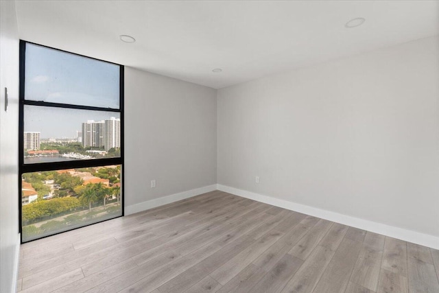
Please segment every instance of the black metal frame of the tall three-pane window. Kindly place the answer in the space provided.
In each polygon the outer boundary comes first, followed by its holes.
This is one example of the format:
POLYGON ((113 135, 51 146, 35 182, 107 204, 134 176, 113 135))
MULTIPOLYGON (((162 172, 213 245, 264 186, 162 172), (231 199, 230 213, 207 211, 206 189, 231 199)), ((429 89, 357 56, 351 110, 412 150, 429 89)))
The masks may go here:
POLYGON ((54 47, 49 47, 45 45, 40 45, 37 43, 32 43, 27 40, 20 40, 20 47, 19 47, 19 233, 20 233, 20 242, 21 244, 32 242, 38 239, 43 239, 45 237, 50 237, 53 235, 57 235, 60 233, 72 231, 78 228, 83 228, 85 226, 90 226, 93 224, 97 224, 100 222, 105 222, 108 220, 116 219, 123 217, 125 215, 125 192, 124 192, 124 152, 125 152, 125 144, 124 144, 124 108, 123 108, 123 94, 124 94, 124 66, 119 65, 115 62, 108 62, 106 60, 101 60, 89 56, 84 56, 81 54, 75 54, 73 52, 65 51, 62 49, 57 49, 54 47), (54 102, 43 102, 43 101, 33 101, 33 100, 27 100, 25 99, 25 50, 26 50, 26 44, 31 45, 37 45, 40 47, 45 47, 48 49, 54 49, 57 51, 61 51, 67 54, 73 54, 75 56, 80 56, 84 58, 89 58, 93 60, 98 60, 102 62, 107 62, 113 65, 119 66, 119 108, 103 108, 103 107, 97 107, 97 106, 83 106, 83 105, 74 105, 74 104, 62 104, 62 103, 54 103, 54 102), (115 157, 115 158, 105 158, 105 159, 86 159, 86 160, 72 160, 72 161, 58 161, 58 162, 46 162, 46 163, 25 163, 24 161, 24 108, 25 106, 42 106, 45 108, 67 108, 67 109, 77 109, 77 110, 97 110, 97 111, 105 111, 105 112, 114 112, 119 113, 120 115, 120 123, 121 123, 121 134, 120 134, 120 145, 121 145, 121 156, 115 157), (56 171, 59 169, 76 169, 76 168, 82 168, 82 167, 100 167, 100 166, 107 166, 107 165, 121 165, 121 215, 107 219, 102 220, 99 222, 95 222, 92 224, 85 224, 84 226, 80 226, 77 228, 71 228, 67 231, 61 231, 58 233, 54 233, 51 235, 46 235, 43 237, 39 237, 36 239, 28 240, 26 242, 23 242, 23 233, 22 233, 22 195, 21 195, 21 182, 22 182, 22 176, 25 173, 29 172, 40 172, 40 171, 56 171))

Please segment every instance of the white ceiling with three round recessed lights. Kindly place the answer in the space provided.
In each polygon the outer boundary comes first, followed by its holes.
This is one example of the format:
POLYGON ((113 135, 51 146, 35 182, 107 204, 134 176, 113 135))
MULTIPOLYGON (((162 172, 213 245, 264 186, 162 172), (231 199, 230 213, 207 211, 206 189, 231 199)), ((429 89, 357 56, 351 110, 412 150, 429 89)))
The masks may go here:
POLYGON ((439 1, 32 0, 16 12, 23 40, 215 89, 439 34, 439 1))

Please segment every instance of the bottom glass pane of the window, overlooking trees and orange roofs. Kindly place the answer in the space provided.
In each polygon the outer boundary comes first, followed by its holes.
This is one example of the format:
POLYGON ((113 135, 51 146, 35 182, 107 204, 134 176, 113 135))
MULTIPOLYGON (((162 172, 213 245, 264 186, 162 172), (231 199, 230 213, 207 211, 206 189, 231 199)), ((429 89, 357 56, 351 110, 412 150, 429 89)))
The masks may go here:
POLYGON ((122 215, 121 165, 25 173, 23 242, 122 215))

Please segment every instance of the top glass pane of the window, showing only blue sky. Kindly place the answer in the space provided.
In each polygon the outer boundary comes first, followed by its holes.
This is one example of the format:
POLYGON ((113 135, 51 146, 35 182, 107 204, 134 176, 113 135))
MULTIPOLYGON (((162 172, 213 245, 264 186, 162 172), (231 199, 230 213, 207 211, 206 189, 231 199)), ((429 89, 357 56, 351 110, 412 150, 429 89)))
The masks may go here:
POLYGON ((119 108, 119 65, 26 44, 25 99, 119 108))

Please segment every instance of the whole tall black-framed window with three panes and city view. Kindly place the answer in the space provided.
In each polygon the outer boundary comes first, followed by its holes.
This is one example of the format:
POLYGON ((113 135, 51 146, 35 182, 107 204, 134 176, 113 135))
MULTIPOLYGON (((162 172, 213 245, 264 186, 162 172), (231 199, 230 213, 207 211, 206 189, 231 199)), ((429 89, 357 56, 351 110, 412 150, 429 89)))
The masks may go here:
POLYGON ((21 242, 123 215, 123 66, 20 41, 21 242))

